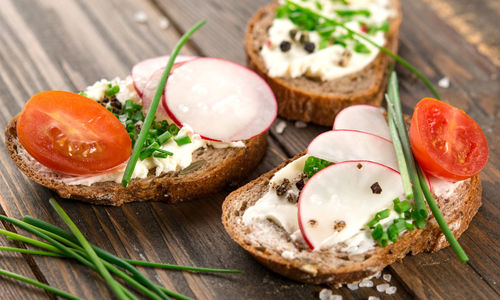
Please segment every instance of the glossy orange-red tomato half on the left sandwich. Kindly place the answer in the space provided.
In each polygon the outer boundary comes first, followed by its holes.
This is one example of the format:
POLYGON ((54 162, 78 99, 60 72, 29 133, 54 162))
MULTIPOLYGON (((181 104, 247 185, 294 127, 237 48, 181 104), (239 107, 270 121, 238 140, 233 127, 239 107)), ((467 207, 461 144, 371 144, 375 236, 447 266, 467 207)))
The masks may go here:
POLYGON ((110 111, 63 91, 33 96, 17 120, 17 135, 38 162, 71 175, 105 172, 125 162, 132 151, 125 127, 110 111))

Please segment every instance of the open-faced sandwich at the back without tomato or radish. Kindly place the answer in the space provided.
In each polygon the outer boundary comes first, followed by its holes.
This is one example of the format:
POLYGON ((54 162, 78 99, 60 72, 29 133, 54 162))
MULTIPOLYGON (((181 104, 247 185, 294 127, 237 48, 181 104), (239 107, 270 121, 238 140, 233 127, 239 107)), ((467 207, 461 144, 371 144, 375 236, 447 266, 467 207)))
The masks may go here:
POLYGON ((380 105, 385 91, 390 57, 356 33, 395 53, 400 23, 398 0, 275 1, 248 24, 247 64, 280 116, 330 126, 349 105, 380 105))

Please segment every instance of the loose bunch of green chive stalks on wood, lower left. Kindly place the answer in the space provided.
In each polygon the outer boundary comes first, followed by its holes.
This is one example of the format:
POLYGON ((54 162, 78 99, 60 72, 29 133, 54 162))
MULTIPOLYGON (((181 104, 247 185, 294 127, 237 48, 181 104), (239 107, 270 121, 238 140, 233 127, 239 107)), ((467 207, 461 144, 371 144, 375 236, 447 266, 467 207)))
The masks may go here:
MULTIPOLYGON (((48 243, 42 242, 17 233, 0 229, 0 234, 5 235, 9 239, 31 244, 36 247, 45 249, 46 251, 12 248, 12 247, 0 247, 0 250, 27 253, 32 255, 74 258, 78 260, 80 263, 88 266, 89 268, 95 270, 96 272, 102 275, 103 274, 101 273, 102 270, 100 270, 101 267, 98 267, 98 265, 101 265, 105 268, 104 272, 108 272, 108 274, 112 273, 118 278, 122 279, 122 281, 116 281, 111 276, 108 277, 109 280, 108 282, 112 284, 112 285, 110 284, 110 287, 113 288, 115 294, 118 296, 119 299, 137 299, 137 297, 131 291, 129 291, 123 283, 129 284, 130 286, 134 287, 135 290, 143 293, 150 299, 157 299, 157 300, 169 299, 168 296, 183 300, 191 299, 184 295, 178 294, 174 291, 168 290, 160 285, 154 284, 141 272, 139 272, 133 265, 165 268, 172 270, 183 270, 183 271, 241 273, 241 271, 238 270, 196 268, 189 266, 177 266, 177 265, 161 264, 161 263, 138 261, 131 259, 121 259, 109 252, 106 252, 98 248, 95 245, 88 243, 81 234, 80 230, 75 226, 73 221, 59 206, 59 204, 54 199, 50 199, 50 204, 56 210, 56 212, 59 214, 62 220, 71 228, 71 231, 73 233, 65 231, 60 227, 46 223, 42 220, 33 218, 31 216, 25 216, 21 221, 14 218, 6 217, 4 215, 0 215, 1 220, 7 221, 26 231, 29 231, 48 242, 48 243), (117 267, 123 268, 129 273, 126 273, 117 267)), ((0 269, 0 275, 24 281, 26 283, 40 287, 42 289, 45 289, 49 292, 52 292, 56 295, 68 299, 81 299, 71 294, 68 294, 64 291, 58 290, 54 287, 48 286, 38 281, 5 270, 0 269)))

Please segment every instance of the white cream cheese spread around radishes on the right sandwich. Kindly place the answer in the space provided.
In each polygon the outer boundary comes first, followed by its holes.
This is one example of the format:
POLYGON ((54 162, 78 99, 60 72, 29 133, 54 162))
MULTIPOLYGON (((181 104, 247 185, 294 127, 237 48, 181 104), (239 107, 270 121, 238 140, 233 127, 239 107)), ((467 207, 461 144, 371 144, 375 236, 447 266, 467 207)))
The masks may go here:
MULTIPOLYGON (((242 221, 245 225, 254 223, 262 224, 263 221, 268 220, 283 228, 292 240, 302 239, 297 217, 297 203, 287 201, 287 194, 278 196, 276 193, 276 186, 282 183, 284 179, 289 179, 293 182, 294 178, 300 178, 307 157, 309 157, 309 155, 304 155, 292 161, 274 174, 269 183, 269 190, 255 203, 255 205, 249 207, 243 214, 242 221)), ((443 179, 432 178, 431 186, 433 188, 433 193, 437 197, 449 197, 463 182, 465 181, 453 183, 443 179)), ((291 193, 300 193, 299 189, 294 184, 292 184, 290 190, 291 193)), ((403 196, 400 198, 403 199, 403 196)), ((380 209, 377 208, 376 211, 373 211, 373 215, 379 210, 380 209)), ((346 214, 347 213, 349 212, 346 212, 346 214)), ((367 223, 372 217, 373 216, 370 216, 368 219, 363 220, 363 223, 367 223)), ((386 229, 392 224, 393 220, 398 217, 399 214, 391 209, 389 217, 382 219, 379 223, 386 229)), ((335 243, 330 243, 329 240, 325 240, 320 247, 313 251, 333 250, 348 253, 349 255, 356 255, 373 249, 375 245, 376 242, 371 237, 370 230, 364 228, 346 237, 341 242, 335 241, 335 243)))

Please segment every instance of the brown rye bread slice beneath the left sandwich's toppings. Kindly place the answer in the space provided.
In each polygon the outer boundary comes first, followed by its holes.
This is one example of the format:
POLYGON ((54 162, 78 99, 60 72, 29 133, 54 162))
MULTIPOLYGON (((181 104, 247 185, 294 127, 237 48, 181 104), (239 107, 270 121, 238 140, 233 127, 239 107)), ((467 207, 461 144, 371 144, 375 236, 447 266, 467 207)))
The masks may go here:
POLYGON ((266 132, 245 141, 244 148, 200 148, 193 153, 193 164, 184 170, 158 177, 150 170, 145 179, 132 179, 127 188, 113 181, 90 186, 68 185, 61 181, 60 173, 46 168, 27 154, 17 137, 17 118, 13 118, 5 130, 7 151, 17 167, 26 176, 55 190, 63 198, 92 204, 122 205, 147 200, 174 203, 212 194, 229 183, 242 180, 257 166, 267 146, 266 132), (193 168, 196 165, 199 168, 193 168))

